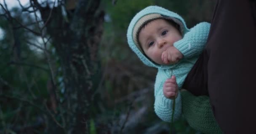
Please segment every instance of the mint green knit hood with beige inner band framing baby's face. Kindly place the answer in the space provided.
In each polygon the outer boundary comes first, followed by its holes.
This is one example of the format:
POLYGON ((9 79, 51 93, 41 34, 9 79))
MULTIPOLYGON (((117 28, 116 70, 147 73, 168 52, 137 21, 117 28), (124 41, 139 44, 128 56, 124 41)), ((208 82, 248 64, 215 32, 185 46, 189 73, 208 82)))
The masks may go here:
POLYGON ((179 31, 181 31, 182 36, 189 31, 185 21, 180 15, 159 6, 149 6, 137 13, 131 20, 130 25, 128 26, 127 40, 130 48, 137 54, 144 64, 149 67, 166 68, 166 65, 159 65, 148 59, 147 56, 144 55, 138 41, 138 35, 141 27, 143 27, 145 23, 160 18, 172 20, 177 23, 180 27, 179 31))

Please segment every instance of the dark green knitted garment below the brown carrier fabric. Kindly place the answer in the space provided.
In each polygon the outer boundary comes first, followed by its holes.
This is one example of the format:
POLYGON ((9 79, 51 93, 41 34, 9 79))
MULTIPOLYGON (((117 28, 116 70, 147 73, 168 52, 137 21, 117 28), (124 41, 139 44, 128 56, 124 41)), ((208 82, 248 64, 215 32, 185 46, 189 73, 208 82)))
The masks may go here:
POLYGON ((182 114, 189 126, 204 134, 222 134, 217 124, 208 96, 194 96, 188 91, 181 91, 182 114))

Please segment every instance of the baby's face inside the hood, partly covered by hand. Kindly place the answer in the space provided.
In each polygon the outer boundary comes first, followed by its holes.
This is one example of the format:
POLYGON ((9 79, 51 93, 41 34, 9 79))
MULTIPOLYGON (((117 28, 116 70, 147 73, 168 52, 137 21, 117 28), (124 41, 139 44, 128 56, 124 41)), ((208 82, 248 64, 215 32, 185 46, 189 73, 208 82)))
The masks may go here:
POLYGON ((144 53, 157 64, 165 64, 161 59, 162 53, 180 39, 179 31, 163 19, 149 22, 139 32, 139 43, 144 53))

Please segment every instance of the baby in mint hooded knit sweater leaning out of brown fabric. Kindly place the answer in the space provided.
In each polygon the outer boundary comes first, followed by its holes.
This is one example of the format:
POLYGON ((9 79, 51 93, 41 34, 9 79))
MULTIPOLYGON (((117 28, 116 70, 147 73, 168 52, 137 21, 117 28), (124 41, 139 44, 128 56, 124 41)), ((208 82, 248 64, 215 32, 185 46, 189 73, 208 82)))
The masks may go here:
POLYGON ((173 121, 181 116, 179 89, 203 51, 209 30, 206 22, 188 29, 181 16, 158 6, 141 10, 131 20, 129 46, 144 64, 158 69, 154 108, 163 121, 171 122, 174 98, 173 121))

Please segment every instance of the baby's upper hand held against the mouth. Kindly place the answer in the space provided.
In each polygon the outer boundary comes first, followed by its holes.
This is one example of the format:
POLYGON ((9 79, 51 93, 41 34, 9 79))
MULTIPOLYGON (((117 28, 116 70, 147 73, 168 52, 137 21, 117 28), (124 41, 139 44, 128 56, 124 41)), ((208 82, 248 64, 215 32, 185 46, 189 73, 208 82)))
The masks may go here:
POLYGON ((183 55, 178 49, 176 49, 176 47, 170 46, 162 53, 161 58, 165 64, 175 64, 183 58, 183 55))

